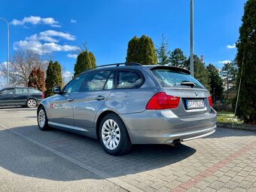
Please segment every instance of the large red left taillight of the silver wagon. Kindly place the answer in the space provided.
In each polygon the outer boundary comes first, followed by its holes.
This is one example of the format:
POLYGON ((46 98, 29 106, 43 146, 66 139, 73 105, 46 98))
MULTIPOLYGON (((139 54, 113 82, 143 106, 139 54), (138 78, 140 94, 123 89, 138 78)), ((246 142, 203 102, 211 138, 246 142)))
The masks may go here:
POLYGON ((154 94, 149 100, 146 109, 156 110, 156 109, 166 109, 166 108, 177 108, 179 103, 178 96, 169 96, 165 92, 160 92, 154 94))

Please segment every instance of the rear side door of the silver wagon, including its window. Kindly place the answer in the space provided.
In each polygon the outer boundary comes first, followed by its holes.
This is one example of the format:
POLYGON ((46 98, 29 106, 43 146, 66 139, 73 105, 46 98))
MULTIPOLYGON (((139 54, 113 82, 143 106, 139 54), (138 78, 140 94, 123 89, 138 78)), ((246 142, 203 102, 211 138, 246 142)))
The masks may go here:
POLYGON ((96 71, 90 75, 83 90, 75 96, 75 126, 90 131, 99 108, 114 88, 114 71, 96 71))

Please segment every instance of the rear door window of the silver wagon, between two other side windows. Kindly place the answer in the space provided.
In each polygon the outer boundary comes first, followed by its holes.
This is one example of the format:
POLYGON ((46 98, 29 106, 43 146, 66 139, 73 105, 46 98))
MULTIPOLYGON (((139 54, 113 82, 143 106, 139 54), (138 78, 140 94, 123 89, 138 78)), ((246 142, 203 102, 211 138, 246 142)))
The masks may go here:
POLYGON ((113 87, 114 77, 112 77, 112 83, 110 78, 108 85, 105 86, 108 77, 111 76, 110 73, 111 72, 94 72, 92 75, 90 75, 90 78, 84 87, 84 91, 103 90, 104 87, 105 89, 111 89, 113 87))

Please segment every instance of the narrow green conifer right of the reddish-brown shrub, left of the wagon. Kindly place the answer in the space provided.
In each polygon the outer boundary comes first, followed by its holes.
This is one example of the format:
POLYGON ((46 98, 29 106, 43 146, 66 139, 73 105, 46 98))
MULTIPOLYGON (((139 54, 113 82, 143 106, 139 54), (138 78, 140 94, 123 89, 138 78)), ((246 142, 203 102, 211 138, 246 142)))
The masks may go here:
POLYGON ((62 73, 61 73, 61 66, 59 65, 59 62, 50 61, 49 66, 47 68, 47 77, 45 80, 46 85, 46 96, 53 96, 52 89, 55 86, 62 86, 62 73))

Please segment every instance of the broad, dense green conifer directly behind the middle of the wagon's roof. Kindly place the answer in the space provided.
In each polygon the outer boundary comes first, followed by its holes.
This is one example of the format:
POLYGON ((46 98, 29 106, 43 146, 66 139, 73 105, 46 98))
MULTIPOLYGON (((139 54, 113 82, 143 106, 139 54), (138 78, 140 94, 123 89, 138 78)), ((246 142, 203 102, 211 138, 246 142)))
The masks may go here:
POLYGON ((133 37, 128 42, 126 62, 139 62, 142 65, 157 64, 157 53, 151 38, 142 35, 133 37))

